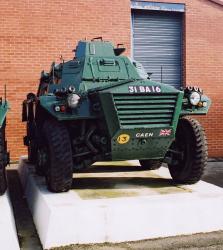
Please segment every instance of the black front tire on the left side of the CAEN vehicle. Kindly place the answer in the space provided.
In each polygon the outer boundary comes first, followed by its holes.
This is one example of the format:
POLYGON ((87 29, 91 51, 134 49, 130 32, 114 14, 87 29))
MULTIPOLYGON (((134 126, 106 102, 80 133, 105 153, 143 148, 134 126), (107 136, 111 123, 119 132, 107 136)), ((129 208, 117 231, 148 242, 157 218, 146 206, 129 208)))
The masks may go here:
POLYGON ((47 120, 43 125, 47 148, 47 187, 51 192, 66 192, 72 186, 73 159, 69 133, 64 125, 47 120))

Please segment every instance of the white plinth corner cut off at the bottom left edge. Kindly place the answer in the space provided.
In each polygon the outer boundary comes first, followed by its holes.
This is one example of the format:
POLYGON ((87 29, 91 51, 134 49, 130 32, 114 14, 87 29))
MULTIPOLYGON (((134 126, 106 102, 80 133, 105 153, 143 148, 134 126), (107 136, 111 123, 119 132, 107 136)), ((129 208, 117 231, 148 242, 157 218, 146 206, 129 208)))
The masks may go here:
POLYGON ((20 249, 8 192, 0 196, 0 249, 20 249))

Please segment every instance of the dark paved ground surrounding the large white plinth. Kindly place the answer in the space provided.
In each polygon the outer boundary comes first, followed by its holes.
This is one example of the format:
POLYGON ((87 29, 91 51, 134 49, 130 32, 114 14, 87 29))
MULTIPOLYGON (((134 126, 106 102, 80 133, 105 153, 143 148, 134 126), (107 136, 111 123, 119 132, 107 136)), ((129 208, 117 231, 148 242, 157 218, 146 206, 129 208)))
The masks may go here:
MULTIPOLYGON (((25 198, 22 196, 21 185, 16 166, 8 168, 9 191, 12 199, 15 214, 16 227, 19 235, 21 249, 38 250, 42 249, 31 214, 28 210, 25 198)), ((208 163, 204 181, 223 187, 223 161, 208 163)), ((204 208, 205 209, 205 208, 204 208)), ((144 240, 139 242, 128 242, 121 244, 94 244, 94 245, 75 245, 64 248, 64 250, 127 250, 127 249, 171 249, 171 250, 195 250, 195 249, 222 249, 223 232, 213 232, 208 234, 197 234, 191 236, 170 237, 165 239, 144 240)))

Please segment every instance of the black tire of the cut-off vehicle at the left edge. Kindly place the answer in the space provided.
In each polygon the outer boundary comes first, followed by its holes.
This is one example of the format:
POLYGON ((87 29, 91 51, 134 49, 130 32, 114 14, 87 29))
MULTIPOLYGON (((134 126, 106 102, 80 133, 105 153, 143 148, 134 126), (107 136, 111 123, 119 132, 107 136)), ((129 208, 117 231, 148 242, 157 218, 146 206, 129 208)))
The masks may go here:
POLYGON ((5 126, 0 128, 0 195, 7 189, 5 126))

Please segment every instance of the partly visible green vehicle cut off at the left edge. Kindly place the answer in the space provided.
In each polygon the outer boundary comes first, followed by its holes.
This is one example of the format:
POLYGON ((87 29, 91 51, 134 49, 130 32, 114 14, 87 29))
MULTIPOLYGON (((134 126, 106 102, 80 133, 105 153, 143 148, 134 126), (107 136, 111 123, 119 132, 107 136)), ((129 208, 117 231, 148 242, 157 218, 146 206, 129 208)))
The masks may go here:
POLYGON ((7 152, 7 142, 5 139, 6 114, 9 105, 6 100, 0 98, 0 195, 7 189, 7 179, 5 167, 9 163, 9 153, 7 152))

